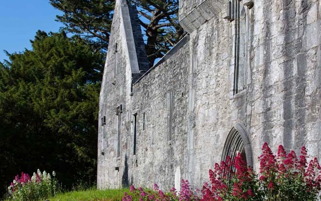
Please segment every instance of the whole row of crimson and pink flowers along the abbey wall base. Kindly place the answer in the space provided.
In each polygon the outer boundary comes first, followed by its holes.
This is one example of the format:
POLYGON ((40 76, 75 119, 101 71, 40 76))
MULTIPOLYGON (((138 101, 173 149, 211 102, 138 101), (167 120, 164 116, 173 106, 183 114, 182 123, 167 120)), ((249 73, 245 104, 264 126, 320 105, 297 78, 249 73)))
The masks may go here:
MULTIPOLYGON (((123 201, 317 201, 321 191, 321 166, 317 158, 307 162, 307 149, 303 146, 297 158, 291 150, 286 154, 282 145, 274 155, 264 143, 259 157, 260 173, 248 167, 238 153, 235 159, 227 158, 209 170, 210 182, 204 183, 199 196, 189 182, 181 181, 181 191, 172 188, 163 193, 154 184, 154 191, 130 187, 123 201)), ((197 191, 197 190, 196 190, 197 191)))

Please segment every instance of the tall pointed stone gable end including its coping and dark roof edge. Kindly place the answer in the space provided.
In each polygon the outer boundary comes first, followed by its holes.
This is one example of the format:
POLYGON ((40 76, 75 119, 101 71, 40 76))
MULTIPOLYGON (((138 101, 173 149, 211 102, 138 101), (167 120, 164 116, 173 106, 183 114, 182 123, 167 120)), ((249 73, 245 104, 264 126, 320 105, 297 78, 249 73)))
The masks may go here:
POLYGON ((109 38, 99 103, 97 187, 116 188, 128 183, 124 175, 127 143, 131 131, 131 85, 148 69, 142 33, 137 27, 137 10, 125 0, 117 0, 109 38), (120 152, 118 157, 118 117, 122 106, 120 152), (103 119, 106 125, 103 125, 103 119), (116 169, 119 170, 116 170, 116 169))

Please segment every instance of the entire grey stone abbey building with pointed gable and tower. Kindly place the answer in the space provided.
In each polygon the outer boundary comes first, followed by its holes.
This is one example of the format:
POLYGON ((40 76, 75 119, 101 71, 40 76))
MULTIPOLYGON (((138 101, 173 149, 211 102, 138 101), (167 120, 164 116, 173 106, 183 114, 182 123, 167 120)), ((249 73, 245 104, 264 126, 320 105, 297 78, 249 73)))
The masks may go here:
POLYGON ((100 93, 98 188, 208 181, 261 147, 321 157, 321 0, 180 0, 188 33, 148 68, 137 10, 116 0, 100 93))

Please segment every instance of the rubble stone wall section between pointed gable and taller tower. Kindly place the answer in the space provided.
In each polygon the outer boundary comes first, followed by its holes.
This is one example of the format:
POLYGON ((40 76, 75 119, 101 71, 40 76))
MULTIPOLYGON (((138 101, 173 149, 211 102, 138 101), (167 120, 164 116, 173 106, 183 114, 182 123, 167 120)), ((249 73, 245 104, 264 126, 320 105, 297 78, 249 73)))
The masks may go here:
POLYGON ((185 45, 171 52, 170 59, 133 86, 138 136, 137 154, 130 156, 138 161, 132 165, 133 183, 149 187, 159 183, 169 190, 176 169, 185 172, 190 60, 188 36, 183 40, 185 45))

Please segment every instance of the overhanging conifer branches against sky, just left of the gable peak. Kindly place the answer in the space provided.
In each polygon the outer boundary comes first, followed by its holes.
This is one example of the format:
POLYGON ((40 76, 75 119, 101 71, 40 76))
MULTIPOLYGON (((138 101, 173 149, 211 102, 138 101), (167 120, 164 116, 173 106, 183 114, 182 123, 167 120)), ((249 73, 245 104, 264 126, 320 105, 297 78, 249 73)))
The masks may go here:
POLYGON ((96 51, 107 51, 115 0, 50 0, 64 12, 63 30, 84 38, 96 51))

